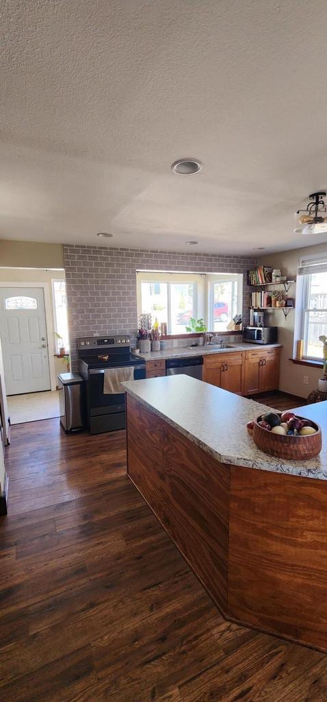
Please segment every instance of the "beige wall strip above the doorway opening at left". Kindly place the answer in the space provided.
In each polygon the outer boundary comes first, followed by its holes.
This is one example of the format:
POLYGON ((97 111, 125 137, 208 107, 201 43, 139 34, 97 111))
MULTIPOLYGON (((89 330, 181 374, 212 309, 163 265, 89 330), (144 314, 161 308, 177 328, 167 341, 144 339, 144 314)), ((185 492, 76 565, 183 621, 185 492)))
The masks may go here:
POLYGON ((0 266, 23 268, 63 268, 62 244, 0 239, 0 266))

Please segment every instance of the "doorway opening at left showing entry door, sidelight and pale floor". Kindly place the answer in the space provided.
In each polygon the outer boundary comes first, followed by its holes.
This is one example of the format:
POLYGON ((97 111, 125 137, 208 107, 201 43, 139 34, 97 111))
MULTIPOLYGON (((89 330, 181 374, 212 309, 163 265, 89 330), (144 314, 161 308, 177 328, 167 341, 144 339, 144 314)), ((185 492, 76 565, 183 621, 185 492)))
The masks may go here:
POLYGON ((0 268, 0 339, 11 424, 60 416, 70 369, 64 270, 0 268))

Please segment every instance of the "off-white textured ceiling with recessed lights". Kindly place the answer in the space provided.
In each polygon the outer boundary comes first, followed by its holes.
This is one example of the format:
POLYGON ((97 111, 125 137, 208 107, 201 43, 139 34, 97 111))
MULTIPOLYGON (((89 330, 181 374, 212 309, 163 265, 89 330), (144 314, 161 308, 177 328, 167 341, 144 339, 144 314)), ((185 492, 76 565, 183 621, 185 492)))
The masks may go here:
POLYGON ((113 246, 218 253, 327 240, 293 234, 295 208, 327 187, 326 0, 1 8, 1 238, 107 231, 113 246), (174 176, 179 157, 203 171, 174 176))

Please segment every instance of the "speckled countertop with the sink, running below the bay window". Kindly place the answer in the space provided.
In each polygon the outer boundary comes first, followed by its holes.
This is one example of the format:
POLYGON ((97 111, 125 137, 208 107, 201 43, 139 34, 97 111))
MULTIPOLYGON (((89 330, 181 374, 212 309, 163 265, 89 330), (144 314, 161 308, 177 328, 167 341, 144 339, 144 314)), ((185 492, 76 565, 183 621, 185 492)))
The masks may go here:
POLYGON ((256 349, 272 349, 281 347, 281 344, 250 344, 243 343, 242 341, 235 341, 235 343, 230 344, 231 349, 221 349, 220 347, 212 346, 194 346, 192 348, 180 346, 172 347, 170 349, 163 349, 162 351, 149 351, 148 353, 141 353, 138 350, 132 350, 132 355, 139 358, 143 358, 145 361, 161 361, 167 360, 169 358, 192 358, 195 356, 207 356, 208 354, 215 353, 229 353, 235 351, 251 351, 256 349))

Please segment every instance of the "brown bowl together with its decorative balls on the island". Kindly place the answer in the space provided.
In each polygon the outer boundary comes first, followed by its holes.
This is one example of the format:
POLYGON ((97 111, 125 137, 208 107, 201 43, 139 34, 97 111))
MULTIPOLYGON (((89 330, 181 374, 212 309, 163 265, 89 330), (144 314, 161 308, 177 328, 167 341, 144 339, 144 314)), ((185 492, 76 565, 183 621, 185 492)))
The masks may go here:
POLYGON ((247 428, 258 449, 276 458, 307 461, 321 451, 319 425, 293 412, 267 412, 249 422, 247 428))

